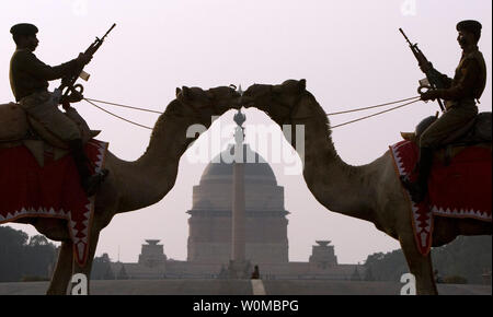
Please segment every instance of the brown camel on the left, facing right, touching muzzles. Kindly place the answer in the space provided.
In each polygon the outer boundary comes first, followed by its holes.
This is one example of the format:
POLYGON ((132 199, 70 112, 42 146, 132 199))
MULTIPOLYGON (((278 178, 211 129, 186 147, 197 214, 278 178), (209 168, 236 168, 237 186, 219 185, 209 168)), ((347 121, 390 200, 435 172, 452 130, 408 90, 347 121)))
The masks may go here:
MULTIPOLYGON (((47 294, 66 294, 72 274, 89 277, 100 232, 117 213, 129 212, 160 201, 174 186, 179 161, 194 141, 186 129, 195 124, 210 127, 213 117, 238 108, 240 97, 233 89, 219 86, 203 91, 198 87, 176 89, 176 98, 167 107, 152 130, 146 152, 127 162, 107 153, 105 167, 110 175, 96 193, 88 261, 80 267, 73 259, 72 242, 65 220, 24 218, 49 239, 61 242, 60 251, 47 294)), ((88 284, 88 291, 90 285, 88 284)))

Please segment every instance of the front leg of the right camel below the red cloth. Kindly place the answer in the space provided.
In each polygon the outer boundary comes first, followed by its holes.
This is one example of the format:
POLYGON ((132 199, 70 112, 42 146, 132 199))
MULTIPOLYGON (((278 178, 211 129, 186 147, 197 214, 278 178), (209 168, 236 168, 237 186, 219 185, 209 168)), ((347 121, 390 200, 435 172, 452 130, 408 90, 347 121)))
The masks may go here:
POLYGON ((417 250, 412 233, 400 236, 399 242, 409 269, 416 278, 416 293, 419 295, 438 295, 433 274, 431 253, 425 257, 417 250))

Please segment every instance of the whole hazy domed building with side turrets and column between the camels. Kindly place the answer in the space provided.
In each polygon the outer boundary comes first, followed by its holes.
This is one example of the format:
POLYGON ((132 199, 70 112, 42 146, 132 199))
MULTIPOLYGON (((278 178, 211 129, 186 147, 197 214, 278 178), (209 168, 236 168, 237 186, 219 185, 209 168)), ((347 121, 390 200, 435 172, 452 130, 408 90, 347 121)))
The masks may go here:
POLYGON ((238 145, 214 157, 193 187, 186 261, 168 259, 159 240, 148 240, 138 263, 112 263, 113 272, 123 271, 128 279, 249 278, 259 266, 262 279, 359 277, 363 267, 339 265, 330 240, 318 240, 308 261, 289 262, 284 187, 265 160, 243 143, 244 119, 241 113, 234 116, 238 145), (232 164, 237 157, 243 164, 232 164))

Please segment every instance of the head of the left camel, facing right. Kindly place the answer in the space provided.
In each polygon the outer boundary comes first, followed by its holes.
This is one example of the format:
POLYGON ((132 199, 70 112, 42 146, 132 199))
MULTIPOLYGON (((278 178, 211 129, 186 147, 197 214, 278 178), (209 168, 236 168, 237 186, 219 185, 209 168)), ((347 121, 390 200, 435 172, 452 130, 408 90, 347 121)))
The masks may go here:
POLYGON ((199 87, 176 89, 177 104, 167 109, 181 116, 199 117, 210 122, 211 116, 220 116, 229 109, 237 109, 240 94, 232 87, 219 86, 209 90, 199 87))

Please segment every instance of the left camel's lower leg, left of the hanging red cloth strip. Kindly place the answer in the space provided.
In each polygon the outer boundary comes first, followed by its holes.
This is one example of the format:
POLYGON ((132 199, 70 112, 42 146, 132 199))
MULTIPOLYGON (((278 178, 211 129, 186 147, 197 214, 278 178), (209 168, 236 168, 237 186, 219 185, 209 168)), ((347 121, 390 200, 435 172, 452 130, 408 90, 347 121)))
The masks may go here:
POLYGON ((61 243, 60 253, 58 254, 57 266, 49 283, 47 295, 66 295, 67 286, 70 282, 72 272, 73 249, 72 242, 66 240, 61 243))

